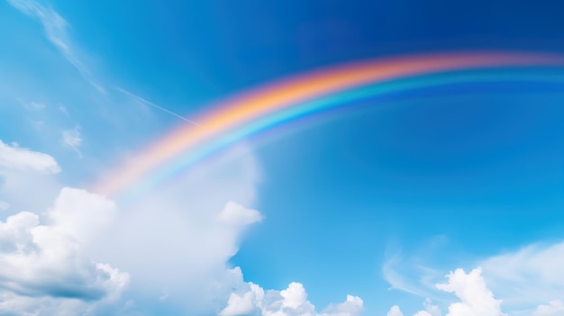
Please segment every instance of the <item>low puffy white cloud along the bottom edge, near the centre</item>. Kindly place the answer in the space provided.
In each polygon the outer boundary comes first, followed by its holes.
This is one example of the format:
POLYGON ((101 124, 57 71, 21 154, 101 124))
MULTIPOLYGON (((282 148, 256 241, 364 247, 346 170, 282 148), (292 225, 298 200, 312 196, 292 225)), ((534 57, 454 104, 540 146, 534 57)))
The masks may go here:
POLYGON ((307 300, 303 284, 293 282, 282 291, 265 292, 257 284, 249 284, 244 293, 232 293, 227 306, 220 316, 262 315, 262 316, 356 316, 364 311, 363 302, 357 296, 347 295, 347 300, 331 304, 322 312, 307 300))

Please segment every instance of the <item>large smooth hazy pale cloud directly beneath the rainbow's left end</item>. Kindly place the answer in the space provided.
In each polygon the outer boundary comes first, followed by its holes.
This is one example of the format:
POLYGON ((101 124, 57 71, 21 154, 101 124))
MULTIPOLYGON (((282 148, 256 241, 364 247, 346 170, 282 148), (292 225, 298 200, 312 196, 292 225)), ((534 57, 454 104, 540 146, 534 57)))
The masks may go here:
POLYGON ((90 251, 130 273, 132 295, 143 303, 166 302, 178 314, 219 311, 233 284, 242 284, 229 259, 245 230, 263 218, 250 208, 259 179, 246 148, 207 160, 137 203, 120 206, 90 251))

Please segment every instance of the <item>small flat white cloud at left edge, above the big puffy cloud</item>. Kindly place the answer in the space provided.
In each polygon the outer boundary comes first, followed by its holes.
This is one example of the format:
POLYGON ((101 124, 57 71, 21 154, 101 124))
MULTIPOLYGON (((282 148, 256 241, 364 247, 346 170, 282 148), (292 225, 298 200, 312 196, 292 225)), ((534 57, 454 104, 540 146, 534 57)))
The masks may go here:
POLYGON ((5 144, 2 140, 0 140, 0 167, 35 170, 50 174, 60 172, 57 161, 50 155, 21 148, 16 143, 10 146, 5 144))

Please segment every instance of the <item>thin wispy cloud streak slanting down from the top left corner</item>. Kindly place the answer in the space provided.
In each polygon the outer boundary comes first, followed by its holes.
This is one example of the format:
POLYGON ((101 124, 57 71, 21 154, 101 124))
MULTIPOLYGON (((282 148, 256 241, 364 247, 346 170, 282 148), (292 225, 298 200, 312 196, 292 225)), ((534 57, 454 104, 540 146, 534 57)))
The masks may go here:
POLYGON ((55 10, 38 4, 32 0, 7 0, 23 14, 27 14, 37 19, 45 30, 47 39, 57 47, 65 59, 68 60, 82 77, 94 86, 96 90, 105 95, 105 88, 93 78, 92 73, 85 64, 77 57, 77 51, 73 43, 69 40, 68 27, 70 26, 55 10))

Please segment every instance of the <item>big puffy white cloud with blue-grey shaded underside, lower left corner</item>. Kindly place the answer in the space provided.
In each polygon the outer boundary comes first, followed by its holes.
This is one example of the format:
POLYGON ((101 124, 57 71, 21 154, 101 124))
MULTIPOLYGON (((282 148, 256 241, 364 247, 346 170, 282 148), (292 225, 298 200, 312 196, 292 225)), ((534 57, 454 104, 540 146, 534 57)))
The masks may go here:
POLYGON ((0 311, 22 314, 37 309, 43 315, 49 312, 42 308, 77 308, 77 301, 90 309, 92 302, 119 298, 129 275, 93 262, 82 247, 93 231, 105 228, 112 212, 114 203, 104 197, 65 188, 46 212, 49 224, 32 212, 0 221, 0 295, 11 302, 0 311))

